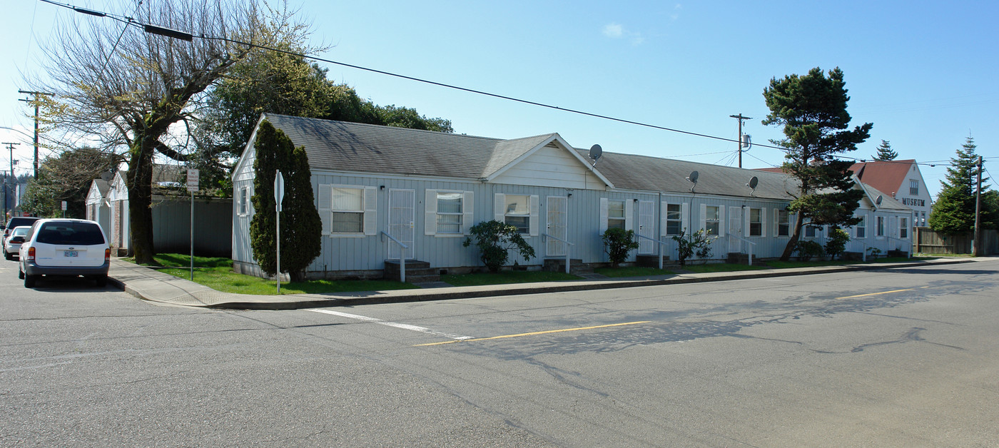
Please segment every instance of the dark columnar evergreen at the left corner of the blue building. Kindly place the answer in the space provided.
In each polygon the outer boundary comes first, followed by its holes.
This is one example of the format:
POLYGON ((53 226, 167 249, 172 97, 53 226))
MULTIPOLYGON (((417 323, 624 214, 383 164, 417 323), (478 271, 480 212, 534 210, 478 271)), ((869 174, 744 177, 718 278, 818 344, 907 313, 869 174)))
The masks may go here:
POLYGON ((281 271, 293 281, 305 278, 305 269, 322 250, 322 222, 312 190, 312 173, 305 149, 266 120, 257 131, 254 146, 254 195, 256 213, 250 221, 250 244, 254 258, 269 275, 277 273, 277 238, 281 238, 281 271), (285 201, 281 212, 281 234, 277 235, 274 180, 278 171, 285 178, 285 201))

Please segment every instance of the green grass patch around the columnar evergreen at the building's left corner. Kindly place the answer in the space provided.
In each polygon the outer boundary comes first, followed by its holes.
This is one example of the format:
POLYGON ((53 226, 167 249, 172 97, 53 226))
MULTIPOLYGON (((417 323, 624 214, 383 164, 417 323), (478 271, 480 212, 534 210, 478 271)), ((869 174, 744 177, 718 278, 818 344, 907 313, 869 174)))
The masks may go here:
MULTIPOLYGON (((191 257, 180 253, 158 253, 154 256, 164 273, 181 278, 191 278, 191 257), (178 266, 178 267, 172 267, 178 266)), ((237 294, 276 295, 274 280, 233 272, 233 260, 224 257, 194 257, 194 281, 212 289, 237 294)), ((419 286, 391 280, 309 280, 282 281, 282 294, 322 294, 330 292, 376 291, 388 289, 414 289, 419 286)))

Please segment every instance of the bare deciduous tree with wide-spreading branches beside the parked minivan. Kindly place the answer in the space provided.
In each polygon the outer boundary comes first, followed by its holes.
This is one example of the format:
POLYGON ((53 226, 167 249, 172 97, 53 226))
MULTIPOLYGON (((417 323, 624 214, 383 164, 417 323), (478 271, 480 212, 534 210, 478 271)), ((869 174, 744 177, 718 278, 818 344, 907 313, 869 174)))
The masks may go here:
MULTIPOLYGON (((154 156, 193 157, 193 123, 205 92, 254 51, 240 41, 273 46, 295 27, 268 27, 256 0, 146 0, 123 4, 132 19, 76 16, 45 45, 48 80, 33 85, 55 94, 53 124, 69 134, 96 136, 102 150, 128 161, 131 246, 137 262, 153 262, 154 156), (139 24, 190 33, 192 41, 143 32, 139 24), (278 32, 273 32, 278 30, 278 32)), ((281 19, 287 20, 288 15, 281 19)))

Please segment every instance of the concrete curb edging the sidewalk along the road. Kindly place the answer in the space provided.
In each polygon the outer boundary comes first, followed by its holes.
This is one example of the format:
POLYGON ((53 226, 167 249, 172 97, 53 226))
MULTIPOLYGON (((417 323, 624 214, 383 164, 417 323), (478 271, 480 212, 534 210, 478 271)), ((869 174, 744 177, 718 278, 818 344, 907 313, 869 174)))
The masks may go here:
MULTIPOLYGON (((286 310, 286 309, 302 309, 302 308, 318 308, 318 307, 330 307, 330 306, 355 306, 355 305, 370 305, 370 304, 380 304, 380 303, 403 303, 403 302, 419 302, 419 301, 432 301, 432 300, 452 300, 461 298, 479 298, 479 297, 497 297, 504 295, 522 295, 522 294, 537 294, 546 292, 571 292, 571 291, 581 291, 581 290, 595 290, 595 289, 617 289, 623 287, 639 287, 639 286, 660 286, 667 284, 688 284, 688 283, 702 283, 708 281, 727 281, 727 280, 737 280, 737 279, 749 279, 749 278, 769 278, 769 277, 780 277, 780 276, 796 276, 796 275, 814 275, 821 273, 834 273, 834 272, 848 272, 848 271, 863 271, 863 270, 878 270, 878 269, 893 269, 901 267, 910 266, 927 266, 927 265, 937 265, 937 264, 958 264, 972 262, 971 259, 953 259, 953 260, 943 260, 934 261, 932 263, 916 263, 916 262, 899 262, 899 263, 885 263, 885 264, 847 264, 838 266, 816 266, 807 268, 788 268, 788 269, 762 269, 762 270, 741 270, 733 272, 721 272, 712 274, 693 274, 698 276, 683 276, 691 274, 678 274, 669 278, 659 278, 659 279, 642 279, 642 280, 620 280, 620 281, 606 281, 606 282, 579 282, 572 281, 571 284, 560 284, 560 285, 550 285, 550 286, 530 286, 530 283, 525 283, 527 285, 523 287, 507 287, 501 289, 478 289, 478 290, 451 290, 449 288, 442 288, 441 292, 437 293, 424 293, 424 294, 410 294, 405 293, 399 295, 385 295, 385 296, 370 296, 370 297, 335 297, 335 298, 315 298, 310 296, 308 298, 303 297, 301 300, 294 299, 296 296, 275 296, 275 298, 283 298, 281 300, 275 301, 248 301, 248 300, 233 300, 224 301, 219 303, 207 304, 202 307, 214 308, 214 309, 252 309, 252 310, 286 310)), ((129 286, 123 281, 108 277, 109 283, 121 288, 125 292, 134 295, 143 300, 155 301, 160 303, 171 303, 178 304, 171 300, 160 299, 157 297, 149 296, 134 287, 129 286)), ((460 287, 454 287, 450 289, 461 289, 460 287)), ((232 294, 233 296, 239 296, 240 294, 232 294)))

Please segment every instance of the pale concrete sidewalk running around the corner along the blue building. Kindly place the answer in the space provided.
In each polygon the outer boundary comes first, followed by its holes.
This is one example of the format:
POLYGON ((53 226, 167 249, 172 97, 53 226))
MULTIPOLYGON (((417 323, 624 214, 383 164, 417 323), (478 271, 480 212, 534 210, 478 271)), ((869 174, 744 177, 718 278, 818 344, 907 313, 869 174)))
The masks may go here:
MULTIPOLYGON (((983 259, 983 258, 977 258, 983 259)), ((984 258, 995 259, 995 258, 984 258)), ((452 286, 429 289, 399 289, 386 291, 337 292, 329 294, 251 295, 221 292, 185 278, 157 269, 140 266, 121 259, 111 260, 108 273, 112 284, 144 300, 183 306, 204 306, 230 309, 298 309, 326 306, 350 306, 403 301, 445 300, 453 298, 488 297, 496 295, 536 294, 544 292, 612 289, 618 287, 652 286, 694 283, 701 281, 735 280, 789 275, 809 275, 851 270, 892 269, 974 262, 975 258, 930 259, 895 263, 864 263, 841 266, 796 267, 789 269, 741 270, 735 272, 681 273, 641 278, 599 280, 566 280, 537 283, 496 284, 485 286, 452 286)))

